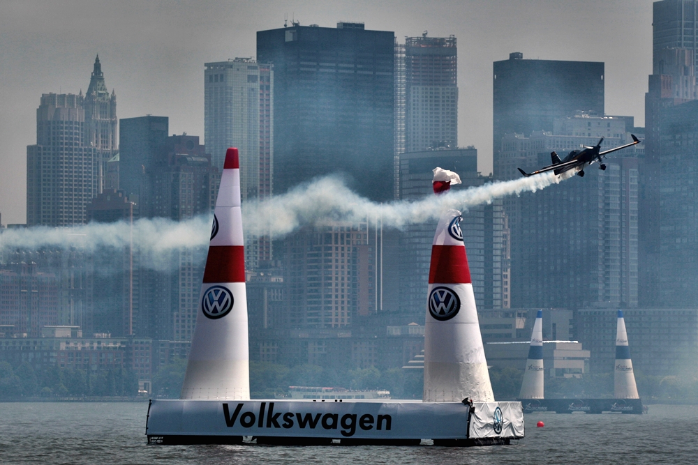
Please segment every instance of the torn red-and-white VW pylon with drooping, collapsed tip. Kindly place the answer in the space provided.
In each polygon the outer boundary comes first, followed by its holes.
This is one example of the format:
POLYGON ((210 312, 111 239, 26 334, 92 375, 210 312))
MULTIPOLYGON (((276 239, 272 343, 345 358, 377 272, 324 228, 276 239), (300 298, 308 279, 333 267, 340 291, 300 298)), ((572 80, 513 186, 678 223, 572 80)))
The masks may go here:
MULTIPOLYGON (((443 195, 451 183, 460 183, 457 176, 435 169, 434 192, 443 195)), ((460 222, 461 212, 447 211, 431 246, 424 402, 460 402, 466 397, 475 402, 494 401, 460 222)))

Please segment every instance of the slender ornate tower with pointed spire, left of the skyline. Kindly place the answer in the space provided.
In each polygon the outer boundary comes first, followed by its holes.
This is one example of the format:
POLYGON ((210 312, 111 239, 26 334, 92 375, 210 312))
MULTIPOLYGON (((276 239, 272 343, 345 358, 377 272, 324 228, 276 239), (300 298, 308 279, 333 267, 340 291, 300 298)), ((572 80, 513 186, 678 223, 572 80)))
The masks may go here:
POLYGON ((84 97, 85 145, 96 148, 98 160, 98 192, 104 187, 107 161, 119 149, 117 144, 117 94, 110 94, 104 82, 99 55, 94 61, 94 70, 84 97))

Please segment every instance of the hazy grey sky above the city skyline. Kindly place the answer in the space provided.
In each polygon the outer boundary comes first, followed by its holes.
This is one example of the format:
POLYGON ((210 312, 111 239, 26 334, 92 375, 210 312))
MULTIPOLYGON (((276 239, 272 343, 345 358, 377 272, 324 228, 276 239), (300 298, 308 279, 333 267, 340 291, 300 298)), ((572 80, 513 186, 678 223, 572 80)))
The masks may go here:
MULTIPOLYGON (((334 27, 339 20, 396 37, 458 39, 459 144, 492 166, 492 62, 604 61, 606 112, 644 124, 652 71, 651 0, 70 1, 0 0, 0 213, 26 221, 27 145, 42 93, 87 90, 99 54, 117 116, 170 117, 170 133, 203 139, 207 61, 255 55, 255 32, 334 27)), ((387 173, 386 176, 392 176, 387 173)))

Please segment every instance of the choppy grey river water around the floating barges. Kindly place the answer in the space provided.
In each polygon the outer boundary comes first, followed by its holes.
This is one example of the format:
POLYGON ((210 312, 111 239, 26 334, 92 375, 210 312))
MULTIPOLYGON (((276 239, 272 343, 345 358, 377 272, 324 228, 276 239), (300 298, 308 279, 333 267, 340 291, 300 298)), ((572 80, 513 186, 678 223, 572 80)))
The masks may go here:
POLYGON ((526 416, 526 439, 480 448, 147 445, 147 402, 0 403, 2 464, 697 464, 698 406, 526 416), (537 428, 542 420, 545 427, 537 428))

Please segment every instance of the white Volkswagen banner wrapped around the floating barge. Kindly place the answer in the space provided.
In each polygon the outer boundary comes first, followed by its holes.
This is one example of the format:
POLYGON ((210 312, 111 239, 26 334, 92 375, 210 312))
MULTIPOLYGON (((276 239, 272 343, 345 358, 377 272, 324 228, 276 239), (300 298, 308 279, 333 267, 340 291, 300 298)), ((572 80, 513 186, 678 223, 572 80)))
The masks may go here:
MULTIPOLYGON (((519 439, 520 402, 311 402, 153 400, 149 442, 215 443, 217 438, 365 441, 519 439)), ((351 441, 345 441, 350 443, 351 441)))

